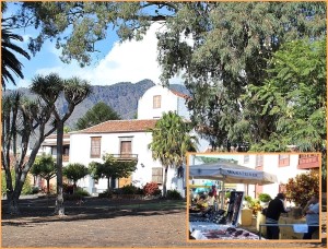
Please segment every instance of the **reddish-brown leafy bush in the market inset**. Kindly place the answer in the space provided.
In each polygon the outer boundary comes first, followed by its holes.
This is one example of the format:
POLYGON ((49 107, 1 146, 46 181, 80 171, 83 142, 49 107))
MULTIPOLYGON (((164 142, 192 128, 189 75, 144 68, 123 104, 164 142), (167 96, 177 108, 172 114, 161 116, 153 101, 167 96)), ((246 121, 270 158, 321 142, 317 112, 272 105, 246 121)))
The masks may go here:
POLYGON ((312 195, 319 195, 319 174, 316 170, 290 178, 285 186, 286 199, 304 208, 312 195))

